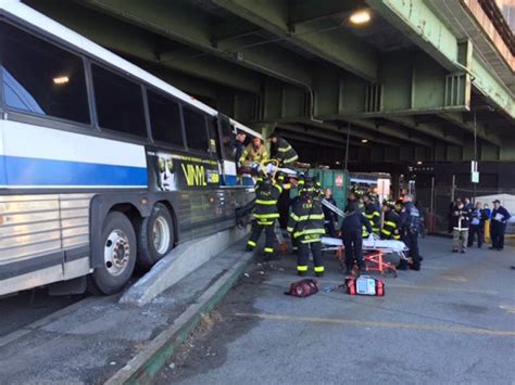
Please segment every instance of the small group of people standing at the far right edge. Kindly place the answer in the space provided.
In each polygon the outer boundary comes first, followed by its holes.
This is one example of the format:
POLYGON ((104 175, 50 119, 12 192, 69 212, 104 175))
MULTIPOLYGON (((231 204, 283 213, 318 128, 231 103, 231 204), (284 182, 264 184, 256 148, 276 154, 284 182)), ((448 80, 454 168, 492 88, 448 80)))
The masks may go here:
POLYGON ((453 253, 466 253, 467 247, 472 247, 474 243, 481 248, 485 243, 487 226, 490 230, 490 249, 502 251, 504 248, 504 233, 511 215, 499 200, 492 203, 493 210, 489 208, 488 204, 482 205, 481 202, 476 202, 476 205, 473 205, 468 197, 456 198, 452 203, 449 214, 449 230, 452 232, 453 253))

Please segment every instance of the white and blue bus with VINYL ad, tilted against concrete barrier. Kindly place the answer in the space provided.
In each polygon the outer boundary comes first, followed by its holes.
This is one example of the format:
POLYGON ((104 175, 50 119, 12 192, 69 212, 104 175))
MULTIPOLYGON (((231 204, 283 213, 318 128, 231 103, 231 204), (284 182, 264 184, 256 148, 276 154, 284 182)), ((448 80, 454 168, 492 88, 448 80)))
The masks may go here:
POLYGON ((258 132, 14 0, 0 66, 0 296, 116 293, 253 198, 233 137, 258 132))

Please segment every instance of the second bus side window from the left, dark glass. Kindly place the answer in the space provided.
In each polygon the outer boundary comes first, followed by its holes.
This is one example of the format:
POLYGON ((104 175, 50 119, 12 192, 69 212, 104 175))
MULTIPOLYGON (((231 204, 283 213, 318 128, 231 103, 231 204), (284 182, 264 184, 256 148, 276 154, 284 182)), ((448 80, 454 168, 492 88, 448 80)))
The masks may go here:
POLYGON ((96 64, 91 74, 99 126, 146 138, 141 86, 96 64))

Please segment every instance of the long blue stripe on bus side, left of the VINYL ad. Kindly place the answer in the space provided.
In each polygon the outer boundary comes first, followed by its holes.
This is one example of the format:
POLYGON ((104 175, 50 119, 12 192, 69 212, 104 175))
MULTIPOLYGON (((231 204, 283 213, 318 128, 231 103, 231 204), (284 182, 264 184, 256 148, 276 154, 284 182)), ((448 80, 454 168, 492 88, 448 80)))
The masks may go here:
POLYGON ((147 169, 142 167, 0 155, 0 184, 3 185, 146 187, 147 182, 147 169))

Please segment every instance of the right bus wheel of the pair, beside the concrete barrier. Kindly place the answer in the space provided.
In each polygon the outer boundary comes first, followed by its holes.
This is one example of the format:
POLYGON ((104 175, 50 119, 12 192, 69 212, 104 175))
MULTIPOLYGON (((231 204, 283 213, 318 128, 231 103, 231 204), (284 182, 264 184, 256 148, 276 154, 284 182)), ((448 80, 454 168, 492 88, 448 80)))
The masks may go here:
POLYGON ((138 267, 148 270, 174 247, 174 220, 162 203, 152 207, 139 229, 138 267))

